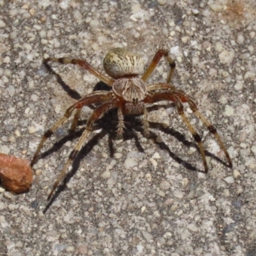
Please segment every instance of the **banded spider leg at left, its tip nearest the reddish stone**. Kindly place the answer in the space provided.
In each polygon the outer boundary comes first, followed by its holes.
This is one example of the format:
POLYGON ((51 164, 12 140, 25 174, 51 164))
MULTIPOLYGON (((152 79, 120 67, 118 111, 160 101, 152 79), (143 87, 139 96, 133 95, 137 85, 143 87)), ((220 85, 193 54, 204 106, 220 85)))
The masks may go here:
POLYGON ((38 154, 40 153, 40 150, 44 146, 45 141, 49 137, 51 137, 52 134, 56 131, 56 129, 58 129, 58 127, 60 127, 60 125, 62 125, 65 122, 65 120, 67 120, 72 115, 72 113, 75 109, 77 109, 77 112, 76 112, 76 115, 74 116, 74 121, 71 125, 71 129, 75 129, 75 126, 77 124, 76 118, 79 117, 79 113, 80 113, 79 109, 81 109, 83 106, 85 106, 87 104, 92 104, 92 103, 97 103, 97 102, 106 102, 110 99, 110 97, 111 96, 110 96, 109 92, 97 91, 97 92, 90 93, 89 95, 78 100, 75 104, 70 106, 67 109, 67 111, 65 112, 65 115, 62 116, 60 118, 60 120, 58 120, 54 125, 52 125, 52 127, 49 130, 47 130, 44 133, 44 136, 42 137, 42 140, 40 141, 38 148, 36 149, 35 155, 33 156, 33 159, 31 161, 31 166, 33 166, 36 163, 38 154))

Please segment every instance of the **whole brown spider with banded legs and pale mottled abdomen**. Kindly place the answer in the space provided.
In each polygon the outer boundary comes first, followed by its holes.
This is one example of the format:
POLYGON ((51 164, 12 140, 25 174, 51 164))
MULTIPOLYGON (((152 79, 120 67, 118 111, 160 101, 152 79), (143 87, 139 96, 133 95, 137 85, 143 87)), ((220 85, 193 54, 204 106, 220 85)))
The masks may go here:
POLYGON ((188 118, 184 114, 184 106, 182 102, 188 102, 189 107, 192 109, 193 113, 202 120, 209 131, 214 134, 216 140, 220 144, 229 166, 232 166, 230 156, 228 155, 227 149, 225 148, 223 141, 218 135, 216 129, 213 125, 200 113, 196 107, 195 102, 186 93, 181 90, 177 90, 173 84, 170 84, 173 72, 175 70, 175 62, 169 56, 168 51, 160 49, 156 52, 152 62, 150 63, 147 70, 144 72, 142 77, 139 75, 143 72, 144 64, 140 55, 133 54, 122 48, 115 48, 109 51, 104 58, 103 65, 106 73, 111 77, 108 77, 95 68, 93 68, 89 63, 84 60, 68 59, 68 58, 47 58, 44 60, 45 63, 49 61, 59 62, 63 64, 74 64, 88 70, 95 77, 99 78, 100 81, 108 84, 112 88, 110 92, 107 91, 96 91, 89 95, 86 95, 82 99, 77 100, 75 104, 70 106, 65 115, 60 118, 48 131, 45 132, 38 148, 35 152, 35 156, 31 161, 31 166, 35 164, 38 159, 38 154, 44 145, 45 140, 49 138, 53 132, 56 131, 61 124, 63 124, 71 115, 74 113, 74 119, 71 125, 71 131, 74 131, 77 127, 77 121, 83 106, 89 104, 100 104, 92 113, 90 118, 86 123, 86 128, 79 138, 74 150, 68 156, 68 161, 63 167, 62 172, 58 176, 58 179, 54 183, 51 193, 48 196, 48 200, 51 198, 55 189, 57 188, 60 180, 63 178, 67 172, 68 166, 76 158, 79 150, 83 147, 85 141, 88 139, 90 133, 92 132, 93 124, 95 120, 99 119, 104 113, 109 109, 118 109, 118 129, 117 134, 120 136, 124 132, 124 115, 141 115, 143 114, 143 128, 145 134, 148 135, 148 113, 145 104, 152 104, 154 102, 159 102, 161 100, 172 100, 174 102, 179 115, 181 116, 184 123, 188 126, 189 132, 195 138, 196 143, 200 149, 202 155, 202 160, 204 163, 205 173, 208 171, 207 162, 205 159, 205 150, 202 145, 202 141, 198 133, 195 131, 193 125, 189 122, 188 118), (157 63, 162 57, 165 57, 170 65, 170 73, 167 78, 166 83, 155 83, 146 84, 146 81, 156 68, 157 63))

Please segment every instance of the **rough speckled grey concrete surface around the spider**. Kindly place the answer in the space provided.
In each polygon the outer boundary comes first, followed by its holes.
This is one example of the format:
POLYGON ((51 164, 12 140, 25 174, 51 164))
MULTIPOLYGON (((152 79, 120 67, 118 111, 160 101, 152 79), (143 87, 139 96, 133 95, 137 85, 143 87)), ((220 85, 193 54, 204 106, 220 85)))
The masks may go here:
MULTIPOLYGON (((256 255, 255 10, 255 0, 0 0, 2 153, 31 159, 44 131, 97 84, 54 63, 61 86, 42 58, 83 58, 103 71, 110 48, 128 47, 148 64, 163 47, 176 60, 173 84, 216 126, 234 164, 225 166, 189 109, 209 152, 207 175, 195 171, 202 159, 172 102, 150 108, 157 143, 132 117, 116 140, 111 111, 47 205, 79 136, 68 137, 66 124, 45 143, 29 193, 0 188, 0 255, 256 255)), ((167 75, 161 61, 150 83, 167 75)), ((91 112, 84 108, 83 120, 91 112)))

